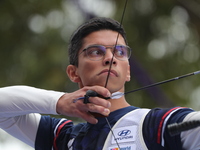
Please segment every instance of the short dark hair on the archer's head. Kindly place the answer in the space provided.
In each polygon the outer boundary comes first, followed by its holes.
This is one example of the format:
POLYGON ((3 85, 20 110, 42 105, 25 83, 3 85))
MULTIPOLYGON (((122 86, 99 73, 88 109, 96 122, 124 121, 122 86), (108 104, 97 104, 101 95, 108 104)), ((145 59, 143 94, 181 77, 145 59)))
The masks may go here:
POLYGON ((116 20, 110 18, 93 18, 82 24, 78 29, 72 34, 69 41, 69 62, 71 65, 78 66, 78 52, 83 44, 83 39, 92 32, 99 30, 112 30, 116 31, 122 35, 126 44, 125 31, 120 23, 116 20))

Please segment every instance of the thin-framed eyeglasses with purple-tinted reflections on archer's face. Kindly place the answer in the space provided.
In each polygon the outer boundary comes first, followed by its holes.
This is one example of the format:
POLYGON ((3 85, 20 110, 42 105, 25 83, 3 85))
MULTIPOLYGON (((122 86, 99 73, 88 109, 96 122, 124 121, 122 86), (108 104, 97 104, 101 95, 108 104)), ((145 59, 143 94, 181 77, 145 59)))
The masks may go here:
POLYGON ((83 49, 81 53, 86 52, 88 59, 97 61, 103 59, 106 54, 106 49, 108 48, 113 49, 114 57, 119 60, 127 60, 131 56, 131 48, 125 45, 90 45, 87 48, 83 49))

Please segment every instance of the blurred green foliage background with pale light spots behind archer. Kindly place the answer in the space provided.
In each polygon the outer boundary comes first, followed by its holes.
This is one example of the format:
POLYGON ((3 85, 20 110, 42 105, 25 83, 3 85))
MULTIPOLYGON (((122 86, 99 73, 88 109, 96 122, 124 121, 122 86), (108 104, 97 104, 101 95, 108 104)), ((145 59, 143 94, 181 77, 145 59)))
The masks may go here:
MULTIPOLYGON (((96 16, 120 22, 124 5, 125 0, 1 0, 0 87, 78 89, 65 73, 70 35, 96 16)), ((128 0, 122 24, 132 48, 126 91, 200 69, 200 1, 128 0)), ((138 107, 179 105, 199 110, 199 83, 196 75, 126 98, 138 107)), ((19 148, 12 148, 12 140, 0 130, 0 149, 29 150, 18 141, 19 148)))

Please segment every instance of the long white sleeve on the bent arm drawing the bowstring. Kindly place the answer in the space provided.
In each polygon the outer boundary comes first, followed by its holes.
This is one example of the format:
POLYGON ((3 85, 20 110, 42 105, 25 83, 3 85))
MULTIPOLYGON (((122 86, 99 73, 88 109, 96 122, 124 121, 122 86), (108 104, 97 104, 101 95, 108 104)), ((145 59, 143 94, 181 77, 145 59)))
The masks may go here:
POLYGON ((34 147, 40 114, 57 114, 63 92, 29 86, 0 88, 0 128, 34 147))

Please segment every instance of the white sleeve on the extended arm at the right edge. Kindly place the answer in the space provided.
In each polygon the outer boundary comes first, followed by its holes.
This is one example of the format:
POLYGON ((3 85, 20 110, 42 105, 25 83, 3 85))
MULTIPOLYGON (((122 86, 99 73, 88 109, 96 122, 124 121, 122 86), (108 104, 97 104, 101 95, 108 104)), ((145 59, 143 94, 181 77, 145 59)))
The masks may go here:
MULTIPOLYGON (((200 112, 192 112, 189 113, 183 120, 185 121, 192 121, 192 120, 199 120, 200 119, 200 112)), ((200 149, 200 127, 184 131, 181 133, 181 142, 183 144, 183 149, 187 150, 199 150, 200 149)))

